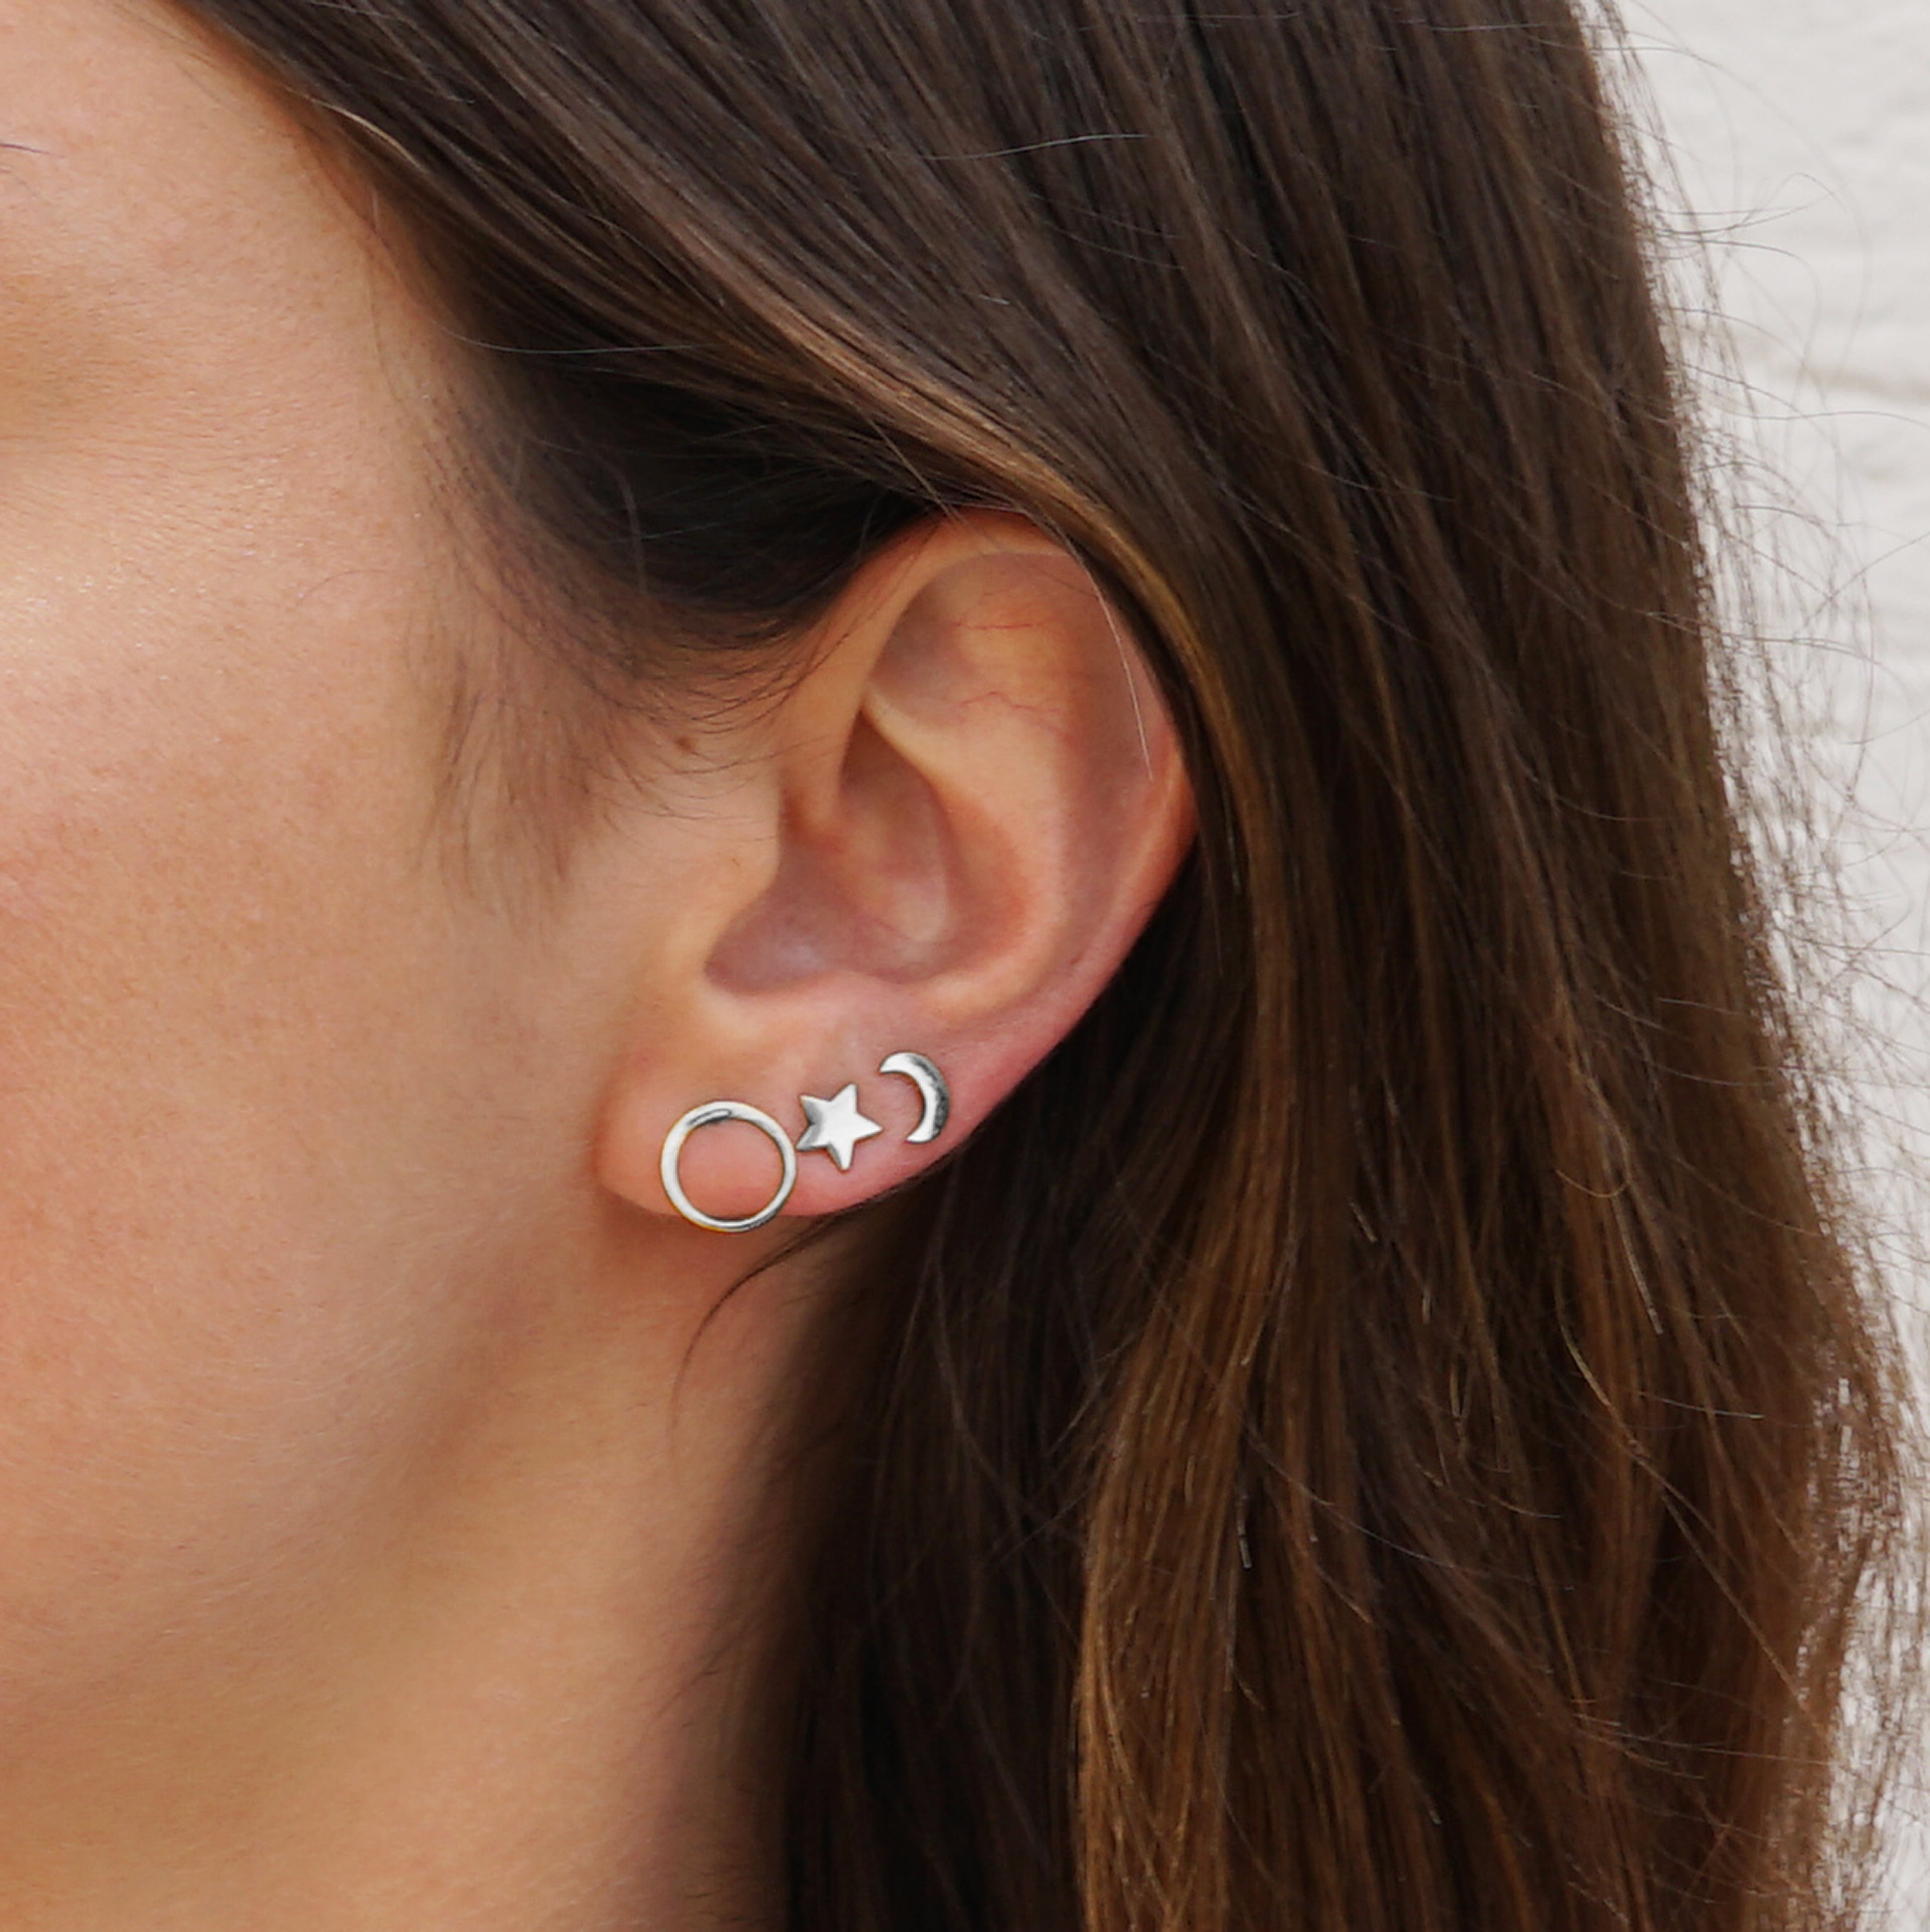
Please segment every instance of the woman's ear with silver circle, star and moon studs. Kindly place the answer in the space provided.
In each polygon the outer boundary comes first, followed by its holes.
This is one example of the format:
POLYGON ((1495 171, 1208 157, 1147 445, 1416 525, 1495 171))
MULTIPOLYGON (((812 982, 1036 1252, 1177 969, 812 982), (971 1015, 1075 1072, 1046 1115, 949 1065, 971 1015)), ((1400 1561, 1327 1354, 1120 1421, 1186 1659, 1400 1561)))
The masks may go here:
MULTIPOLYGON (((850 1167, 796 1155, 786 1213, 850 1208, 943 1159, 1119 968, 1192 835, 1171 721, 1092 576, 1034 524, 964 512, 871 558, 806 674, 738 742, 651 949, 655 981, 599 1130, 601 1182, 670 1213, 665 1136, 748 1101, 794 1142, 802 1097, 856 1082, 850 1167), (951 1113, 893 1055, 931 1061, 951 1113), (856 1126, 858 1122, 854 1122, 856 1126)), ((757 1213, 765 1132, 705 1124, 680 1155, 705 1213, 757 1213)))

